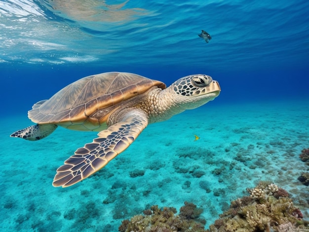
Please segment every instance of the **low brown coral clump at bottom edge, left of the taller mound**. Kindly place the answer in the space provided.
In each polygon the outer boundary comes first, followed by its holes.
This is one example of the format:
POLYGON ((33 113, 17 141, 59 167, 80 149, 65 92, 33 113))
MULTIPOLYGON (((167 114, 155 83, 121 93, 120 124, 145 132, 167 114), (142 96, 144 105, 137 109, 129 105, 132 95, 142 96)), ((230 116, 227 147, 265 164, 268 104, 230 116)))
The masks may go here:
POLYGON ((157 205, 144 210, 144 215, 135 215, 122 221, 119 232, 206 232, 206 221, 199 218, 202 209, 190 202, 180 208, 179 215, 174 207, 159 209, 157 205))

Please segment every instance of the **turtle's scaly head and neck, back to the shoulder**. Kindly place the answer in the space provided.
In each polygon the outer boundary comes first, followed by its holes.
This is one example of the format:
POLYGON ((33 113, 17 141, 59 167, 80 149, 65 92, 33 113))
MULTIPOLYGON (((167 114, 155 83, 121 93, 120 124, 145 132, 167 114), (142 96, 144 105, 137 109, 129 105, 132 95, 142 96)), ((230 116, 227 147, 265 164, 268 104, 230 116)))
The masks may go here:
MULTIPOLYGON (((205 78, 204 76, 202 77, 205 78)), ((209 81, 205 83, 206 86, 202 84, 199 87, 193 86, 192 79, 197 82, 197 78, 197 75, 183 77, 163 90, 158 87, 151 88, 146 93, 116 108, 108 119, 108 125, 115 124, 132 109, 140 109, 145 112, 149 124, 165 121, 185 110, 202 106, 219 95, 220 86, 217 81, 206 76, 207 79, 204 81, 209 81)))

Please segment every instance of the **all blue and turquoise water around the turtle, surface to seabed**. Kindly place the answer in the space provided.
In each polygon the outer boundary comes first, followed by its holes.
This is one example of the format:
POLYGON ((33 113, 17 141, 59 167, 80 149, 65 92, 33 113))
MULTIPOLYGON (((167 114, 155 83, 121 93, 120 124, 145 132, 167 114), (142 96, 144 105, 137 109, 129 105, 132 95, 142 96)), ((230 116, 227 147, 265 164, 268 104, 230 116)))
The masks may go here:
POLYGON ((117 231, 150 205, 184 201, 204 209, 208 228, 259 180, 289 191, 308 220, 308 187, 297 180, 308 171, 298 157, 309 148, 308 22, 306 0, 0 1, 1 231, 117 231), (32 124, 34 103, 111 71, 167 85, 202 73, 222 92, 149 125, 94 176, 54 188, 55 170, 96 134, 9 135, 32 124))

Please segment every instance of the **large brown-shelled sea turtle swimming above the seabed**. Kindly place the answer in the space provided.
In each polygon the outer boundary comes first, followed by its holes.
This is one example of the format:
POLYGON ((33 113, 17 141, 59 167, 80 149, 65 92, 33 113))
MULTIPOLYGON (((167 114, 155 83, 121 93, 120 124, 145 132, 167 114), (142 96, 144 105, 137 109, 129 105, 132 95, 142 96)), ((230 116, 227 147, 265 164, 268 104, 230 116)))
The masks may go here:
POLYGON ((81 78, 36 103, 28 117, 36 125, 11 137, 39 140, 57 126, 100 131, 57 169, 55 187, 68 187, 92 175, 123 152, 149 123, 164 121, 213 100, 219 83, 207 75, 182 77, 168 88, 158 80, 131 73, 103 73, 81 78))

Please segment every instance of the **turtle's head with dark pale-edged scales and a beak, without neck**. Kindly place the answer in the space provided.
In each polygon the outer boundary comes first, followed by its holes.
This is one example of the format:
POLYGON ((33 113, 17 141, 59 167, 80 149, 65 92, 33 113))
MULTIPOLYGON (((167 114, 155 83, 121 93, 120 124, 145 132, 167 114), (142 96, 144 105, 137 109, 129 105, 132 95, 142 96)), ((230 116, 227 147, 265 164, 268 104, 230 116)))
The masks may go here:
POLYGON ((218 81, 203 74, 180 78, 170 87, 177 105, 186 110, 200 107, 212 101, 221 91, 218 81))

